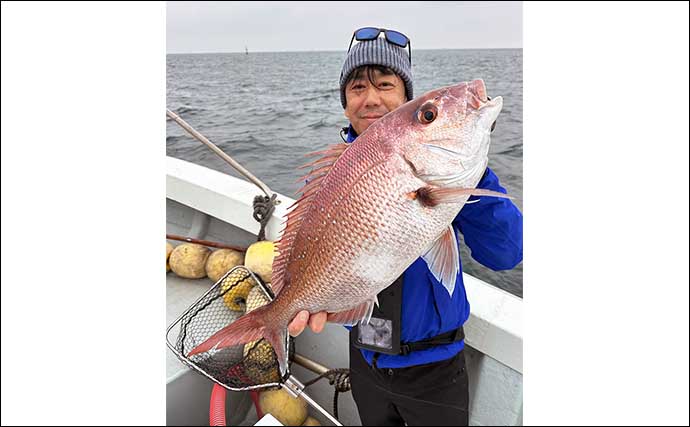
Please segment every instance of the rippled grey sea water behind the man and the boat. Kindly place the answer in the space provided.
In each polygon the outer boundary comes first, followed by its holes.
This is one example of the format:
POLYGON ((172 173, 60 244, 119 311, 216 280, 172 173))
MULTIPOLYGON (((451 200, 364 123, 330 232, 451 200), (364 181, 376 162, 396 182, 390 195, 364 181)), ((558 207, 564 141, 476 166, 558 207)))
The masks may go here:
MULTIPOLYGON (((273 191, 294 198, 304 154, 341 142, 348 124, 338 88, 344 59, 345 52, 170 54, 166 105, 273 191)), ((503 97, 489 167, 522 210, 522 49, 415 50, 412 62, 415 96, 481 78, 489 96, 503 97)), ((166 154, 239 176, 170 120, 166 154)), ((464 242, 460 257, 465 272, 522 297, 522 263, 492 271, 464 242)))

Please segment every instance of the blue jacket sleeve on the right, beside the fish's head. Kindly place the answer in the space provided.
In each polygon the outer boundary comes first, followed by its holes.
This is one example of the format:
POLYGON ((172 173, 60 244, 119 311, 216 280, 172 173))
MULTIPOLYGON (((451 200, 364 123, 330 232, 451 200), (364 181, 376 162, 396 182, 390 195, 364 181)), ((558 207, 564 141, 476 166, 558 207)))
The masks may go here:
MULTIPOLYGON (((477 188, 500 191, 498 177, 486 168, 477 188)), ((522 213, 510 199, 470 196, 453 225, 463 234, 472 258, 492 270, 510 270, 522 261, 522 213)))

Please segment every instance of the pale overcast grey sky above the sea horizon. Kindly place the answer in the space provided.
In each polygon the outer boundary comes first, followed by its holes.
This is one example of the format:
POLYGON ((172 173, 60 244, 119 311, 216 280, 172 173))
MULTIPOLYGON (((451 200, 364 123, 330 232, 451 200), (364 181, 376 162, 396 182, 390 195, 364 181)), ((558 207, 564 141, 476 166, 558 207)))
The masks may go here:
POLYGON ((413 49, 521 48, 522 2, 167 2, 166 26, 168 53, 337 51, 366 26, 413 49))

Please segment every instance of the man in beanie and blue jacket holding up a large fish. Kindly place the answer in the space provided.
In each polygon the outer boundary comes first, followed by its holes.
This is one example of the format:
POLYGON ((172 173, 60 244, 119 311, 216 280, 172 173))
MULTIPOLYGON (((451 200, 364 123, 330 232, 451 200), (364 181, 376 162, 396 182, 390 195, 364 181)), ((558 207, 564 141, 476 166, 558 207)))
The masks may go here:
MULTIPOLYGON (((340 77, 348 143, 413 98, 409 39, 378 28, 357 30, 355 38, 340 77)), ((505 193, 489 168, 477 187, 505 193)), ((483 265, 505 270, 522 261, 522 215, 510 200, 483 197, 466 204, 453 225, 483 265)), ((468 425, 462 325, 470 306, 462 269, 449 296, 419 258, 378 299, 376 322, 350 332, 350 382, 362 424, 468 425)), ((290 334, 307 324, 321 332, 325 322, 325 312, 300 312, 290 334)))

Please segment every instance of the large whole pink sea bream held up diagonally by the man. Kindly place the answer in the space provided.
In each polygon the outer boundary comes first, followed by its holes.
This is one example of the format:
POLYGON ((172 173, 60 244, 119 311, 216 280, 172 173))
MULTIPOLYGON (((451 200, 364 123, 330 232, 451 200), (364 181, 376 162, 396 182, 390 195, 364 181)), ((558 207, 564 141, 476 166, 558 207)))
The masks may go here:
POLYGON ((452 295, 459 273, 453 219, 487 163, 502 99, 475 80, 430 91, 337 144, 307 167, 273 263, 276 299, 190 355, 265 337, 287 369, 287 326, 301 310, 328 321, 368 321, 376 295, 420 256, 452 295))

